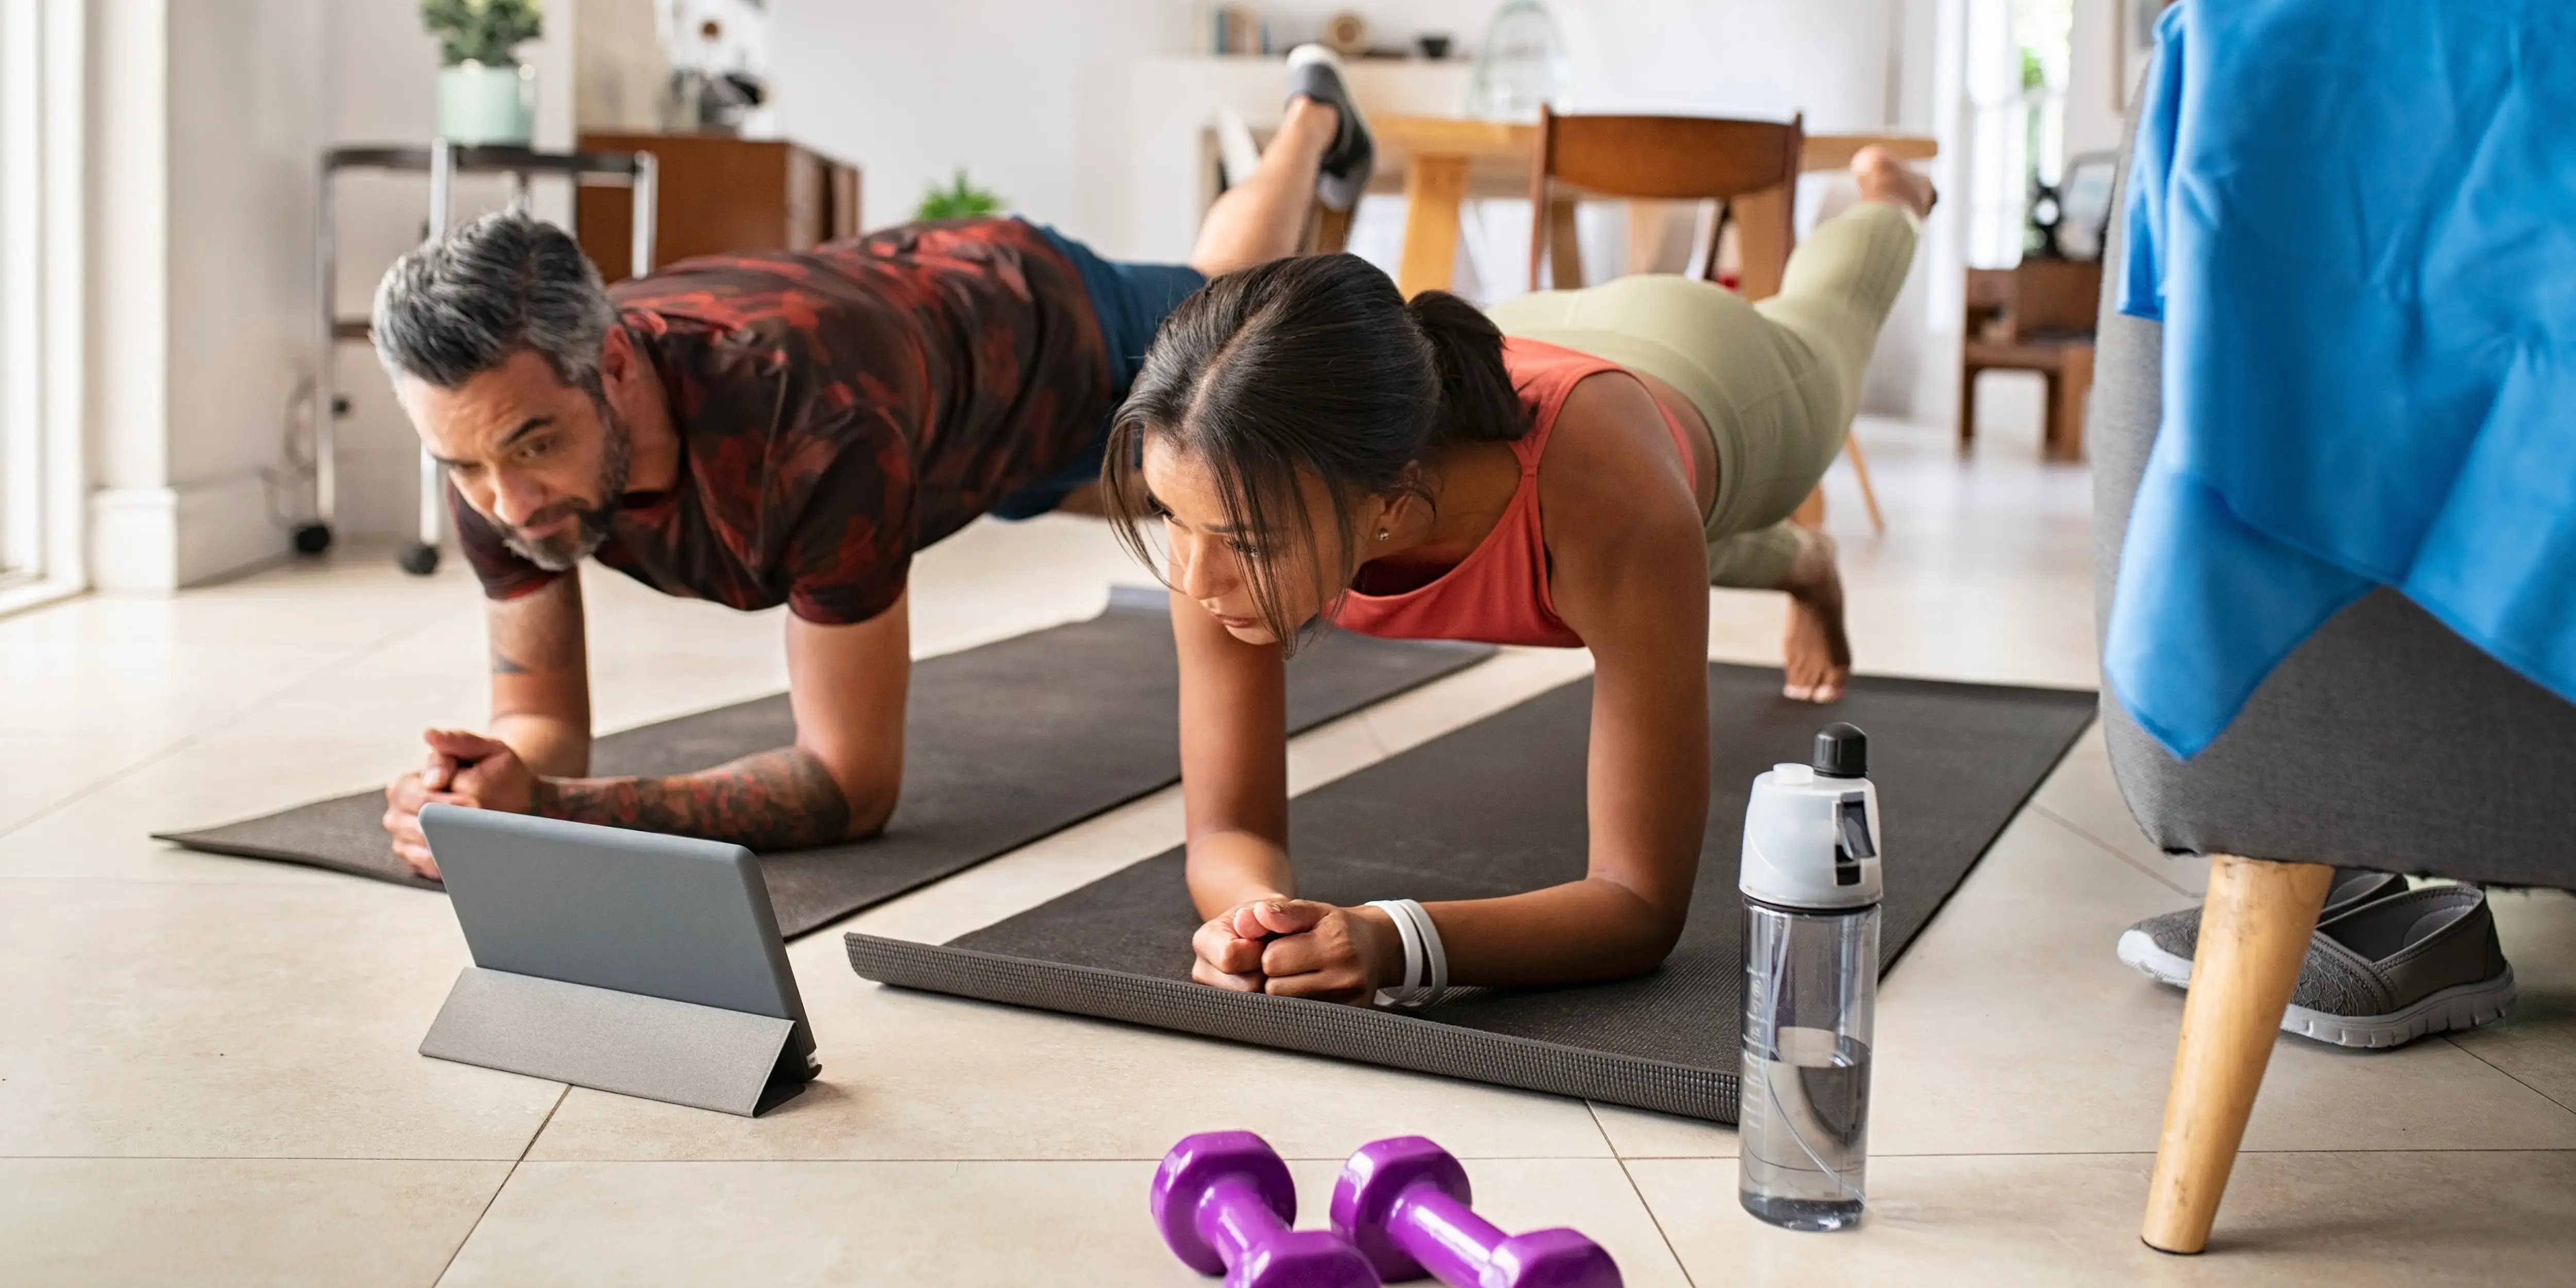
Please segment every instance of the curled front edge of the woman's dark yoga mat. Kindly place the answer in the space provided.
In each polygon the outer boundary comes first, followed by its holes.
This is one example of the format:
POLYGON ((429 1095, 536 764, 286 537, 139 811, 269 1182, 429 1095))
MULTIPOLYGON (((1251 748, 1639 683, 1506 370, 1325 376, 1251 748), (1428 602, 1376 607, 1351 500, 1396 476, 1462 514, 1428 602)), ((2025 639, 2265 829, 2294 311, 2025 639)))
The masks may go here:
POLYGON ((899 989, 1121 1020, 1417 1074, 1492 1082, 1610 1105, 1736 1121, 1736 1074, 1484 1033, 1412 1015, 1182 984, 1126 971, 1023 961, 974 948, 845 933, 850 969, 899 989))

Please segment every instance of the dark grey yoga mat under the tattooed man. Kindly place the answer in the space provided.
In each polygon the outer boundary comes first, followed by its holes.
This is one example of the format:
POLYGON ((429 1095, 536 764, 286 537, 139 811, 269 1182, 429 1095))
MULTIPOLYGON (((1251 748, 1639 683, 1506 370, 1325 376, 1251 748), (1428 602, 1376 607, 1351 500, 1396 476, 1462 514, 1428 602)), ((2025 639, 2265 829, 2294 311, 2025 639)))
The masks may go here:
MULTIPOLYGON (((1334 634, 1291 667, 1288 724, 1311 729, 1492 652, 1334 634)), ((762 855, 778 930, 804 935, 1172 786, 1177 708, 1162 590, 1118 590, 1097 618, 917 662, 894 822, 876 840, 762 855)), ((688 773, 793 739, 781 693, 608 734, 592 744, 590 770, 688 773)), ((379 788, 160 840, 438 889, 394 858, 381 817, 379 788)))

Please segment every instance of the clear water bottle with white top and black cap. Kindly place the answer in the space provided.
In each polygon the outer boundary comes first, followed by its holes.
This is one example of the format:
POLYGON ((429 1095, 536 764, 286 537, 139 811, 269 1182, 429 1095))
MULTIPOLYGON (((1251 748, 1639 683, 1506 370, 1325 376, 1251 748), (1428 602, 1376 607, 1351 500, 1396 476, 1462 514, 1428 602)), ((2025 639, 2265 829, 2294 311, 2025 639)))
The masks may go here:
POLYGON ((1860 1221, 1878 997, 1878 788, 1870 739, 1816 734, 1744 809, 1744 1211, 1788 1229, 1860 1221))

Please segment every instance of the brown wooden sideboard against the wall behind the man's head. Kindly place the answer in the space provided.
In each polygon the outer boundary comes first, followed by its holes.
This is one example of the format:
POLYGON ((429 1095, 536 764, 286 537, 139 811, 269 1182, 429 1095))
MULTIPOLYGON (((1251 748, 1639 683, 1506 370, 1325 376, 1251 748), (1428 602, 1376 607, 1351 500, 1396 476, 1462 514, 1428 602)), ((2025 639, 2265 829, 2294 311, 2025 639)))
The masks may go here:
MULTIPOLYGON (((585 152, 652 152, 659 162, 654 263, 726 250, 806 250, 855 237, 858 167, 809 147, 724 134, 582 134, 585 152)), ((608 281, 626 278, 626 188, 580 188, 574 234, 608 281)))

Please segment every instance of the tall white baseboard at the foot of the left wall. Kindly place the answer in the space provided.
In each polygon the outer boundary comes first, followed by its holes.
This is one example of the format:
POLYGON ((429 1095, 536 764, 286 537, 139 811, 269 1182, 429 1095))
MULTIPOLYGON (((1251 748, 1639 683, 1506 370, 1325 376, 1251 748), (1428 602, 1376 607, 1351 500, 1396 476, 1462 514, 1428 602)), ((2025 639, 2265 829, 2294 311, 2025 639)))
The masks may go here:
POLYGON ((258 474, 90 492, 90 585, 98 590, 178 590, 286 554, 289 538, 268 518, 268 484, 258 474))

